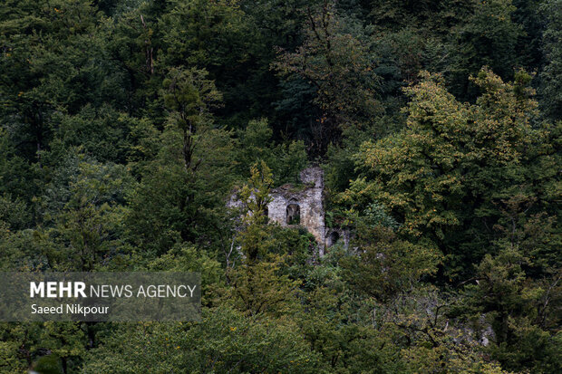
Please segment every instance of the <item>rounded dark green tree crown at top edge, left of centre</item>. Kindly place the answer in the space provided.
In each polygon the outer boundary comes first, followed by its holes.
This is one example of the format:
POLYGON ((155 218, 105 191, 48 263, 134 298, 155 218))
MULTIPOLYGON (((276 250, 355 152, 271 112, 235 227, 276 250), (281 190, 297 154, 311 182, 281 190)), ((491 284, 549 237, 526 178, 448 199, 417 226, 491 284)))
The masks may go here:
MULTIPOLYGON (((227 118, 251 108, 252 102, 259 100, 258 94, 266 93, 254 82, 254 77, 261 76, 256 60, 262 43, 239 2, 191 0, 172 5, 159 20, 164 53, 157 63, 207 70, 224 94, 227 105, 220 114, 227 118), (248 101, 250 98, 255 100, 248 101)), ((236 120, 229 124, 237 127, 236 120)))

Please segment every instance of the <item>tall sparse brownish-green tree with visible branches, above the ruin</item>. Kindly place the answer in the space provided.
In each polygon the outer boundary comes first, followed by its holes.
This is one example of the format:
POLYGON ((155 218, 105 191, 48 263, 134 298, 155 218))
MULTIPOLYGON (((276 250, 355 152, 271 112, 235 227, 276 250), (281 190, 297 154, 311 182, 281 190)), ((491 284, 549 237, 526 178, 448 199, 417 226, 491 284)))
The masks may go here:
POLYGON ((373 61, 356 36, 344 28, 334 5, 306 9, 305 42, 295 53, 279 54, 274 67, 287 78, 298 77, 315 89, 318 115, 313 128, 315 152, 324 154, 342 129, 357 125, 377 108, 373 61))

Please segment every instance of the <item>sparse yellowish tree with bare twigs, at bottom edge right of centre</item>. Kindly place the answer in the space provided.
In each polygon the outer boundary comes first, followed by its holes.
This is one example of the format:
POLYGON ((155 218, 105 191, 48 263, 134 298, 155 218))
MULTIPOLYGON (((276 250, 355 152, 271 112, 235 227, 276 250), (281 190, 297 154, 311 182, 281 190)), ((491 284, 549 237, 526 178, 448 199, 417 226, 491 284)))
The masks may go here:
POLYGON ((507 374, 482 352, 478 337, 451 318, 456 302, 432 286, 398 293, 375 306, 376 328, 397 344, 405 372, 507 374))

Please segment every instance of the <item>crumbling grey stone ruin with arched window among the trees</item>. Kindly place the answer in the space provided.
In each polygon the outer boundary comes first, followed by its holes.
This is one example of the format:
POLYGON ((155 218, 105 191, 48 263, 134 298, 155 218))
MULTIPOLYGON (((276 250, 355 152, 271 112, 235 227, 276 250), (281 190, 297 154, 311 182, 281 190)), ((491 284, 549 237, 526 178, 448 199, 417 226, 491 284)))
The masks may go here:
MULTIPOLYGON (((325 248, 343 240, 349 245, 349 231, 330 228, 325 225, 324 171, 322 168, 305 168, 300 172, 302 186, 286 184, 271 190, 271 202, 267 205, 269 222, 283 227, 304 227, 315 236, 318 254, 324 255, 325 248)), ((230 207, 239 207, 241 202, 231 198, 230 207)))

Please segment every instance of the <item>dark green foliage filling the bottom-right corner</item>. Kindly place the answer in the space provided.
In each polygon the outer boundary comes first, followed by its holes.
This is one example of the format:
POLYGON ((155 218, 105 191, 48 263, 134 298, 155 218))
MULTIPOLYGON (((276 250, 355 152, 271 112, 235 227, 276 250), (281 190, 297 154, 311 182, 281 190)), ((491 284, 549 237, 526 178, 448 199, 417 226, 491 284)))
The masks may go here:
POLYGON ((470 305, 490 321, 495 339, 489 353, 504 368, 557 372, 559 337, 547 326, 559 323, 555 310, 562 299, 560 274, 533 281, 524 270, 530 263, 517 247, 486 255, 475 277, 478 283, 467 287, 470 305))

